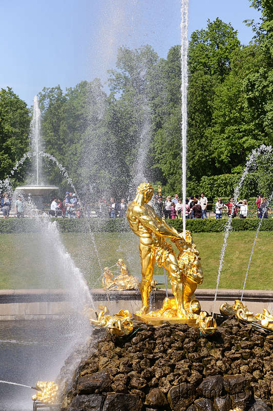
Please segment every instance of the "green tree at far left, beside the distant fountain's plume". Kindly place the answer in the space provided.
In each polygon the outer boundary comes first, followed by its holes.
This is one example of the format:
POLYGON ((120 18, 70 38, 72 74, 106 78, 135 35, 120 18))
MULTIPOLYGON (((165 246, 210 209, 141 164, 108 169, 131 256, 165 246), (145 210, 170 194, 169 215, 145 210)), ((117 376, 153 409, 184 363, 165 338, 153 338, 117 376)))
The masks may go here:
MULTIPOLYGON (((27 104, 12 90, 0 90, 0 179, 10 174, 17 160, 29 148, 30 112, 27 104)), ((25 167, 14 175, 15 183, 24 181, 25 167)))

